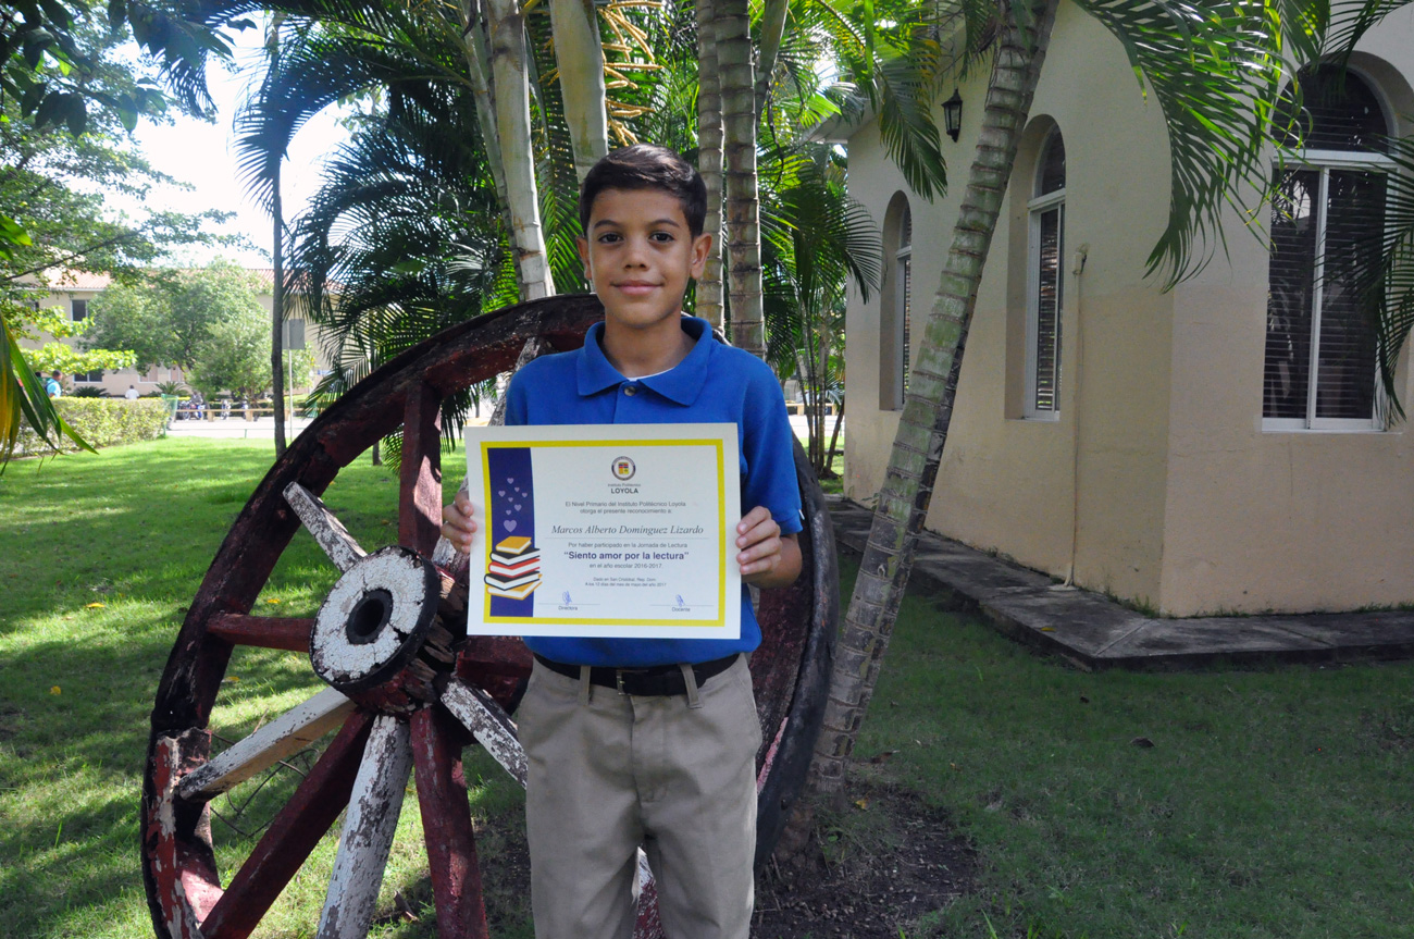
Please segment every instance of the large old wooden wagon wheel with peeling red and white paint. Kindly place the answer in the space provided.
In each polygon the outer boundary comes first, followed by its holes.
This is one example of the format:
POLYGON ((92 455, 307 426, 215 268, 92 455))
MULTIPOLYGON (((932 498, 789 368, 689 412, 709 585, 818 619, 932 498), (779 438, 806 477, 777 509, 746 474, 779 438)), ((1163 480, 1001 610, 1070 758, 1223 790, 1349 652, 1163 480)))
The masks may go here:
MULTIPOLYGON (((530 338, 553 349, 578 348, 601 317, 594 297, 563 296, 452 327, 361 382, 266 474, 197 591, 153 708, 141 851, 160 938, 249 935, 348 807, 318 936, 361 939, 410 775, 417 781, 438 936, 486 936, 461 750, 475 738, 525 782, 508 711, 530 656, 518 639, 458 635, 465 584, 433 563, 444 557, 436 553, 440 404, 512 368, 530 338), (318 495, 399 426, 397 544, 365 554, 318 495), (301 523, 342 573, 338 583, 315 618, 250 615, 301 523), (208 721, 236 645, 304 652, 329 687, 211 757, 208 721), (329 731, 337 731, 332 742, 222 890, 211 799, 329 731)), ((839 610, 833 530, 796 450, 807 515, 806 570, 793 587, 764 591, 764 643, 752 660, 765 741, 758 754, 758 864, 805 782, 839 610)), ((641 905, 638 935, 658 932, 655 914, 650 899, 641 905)))

